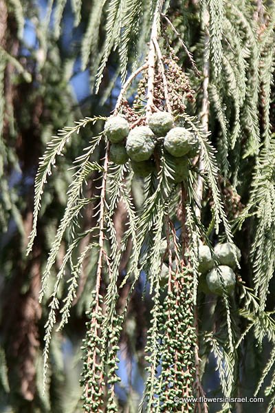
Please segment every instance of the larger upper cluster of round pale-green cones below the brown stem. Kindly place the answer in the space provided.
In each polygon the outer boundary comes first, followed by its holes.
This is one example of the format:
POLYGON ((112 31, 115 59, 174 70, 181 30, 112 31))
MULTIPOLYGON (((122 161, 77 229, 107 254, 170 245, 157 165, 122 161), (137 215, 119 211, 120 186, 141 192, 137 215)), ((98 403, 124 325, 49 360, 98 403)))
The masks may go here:
POLYGON ((112 162, 123 165, 130 158, 134 173, 137 176, 148 176, 155 170, 155 147, 162 142, 173 181, 182 182, 188 177, 189 160, 199 153, 199 141, 188 129, 175 127, 171 114, 156 112, 148 119, 148 126, 130 129, 123 116, 107 119, 104 134, 111 143, 112 162))

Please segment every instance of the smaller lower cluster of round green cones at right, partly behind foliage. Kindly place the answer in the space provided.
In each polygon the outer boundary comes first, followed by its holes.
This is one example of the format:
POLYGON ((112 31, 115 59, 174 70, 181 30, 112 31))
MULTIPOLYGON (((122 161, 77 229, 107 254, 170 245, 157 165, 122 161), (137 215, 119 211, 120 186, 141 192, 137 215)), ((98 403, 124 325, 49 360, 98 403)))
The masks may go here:
POLYGON ((214 266, 210 248, 207 245, 199 246, 199 289, 203 293, 232 294, 236 284, 234 269, 241 259, 241 251, 234 244, 226 242, 217 244, 214 255, 219 265, 214 266))

